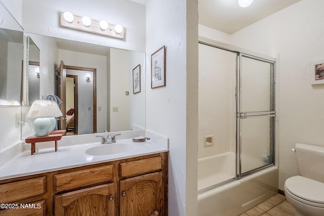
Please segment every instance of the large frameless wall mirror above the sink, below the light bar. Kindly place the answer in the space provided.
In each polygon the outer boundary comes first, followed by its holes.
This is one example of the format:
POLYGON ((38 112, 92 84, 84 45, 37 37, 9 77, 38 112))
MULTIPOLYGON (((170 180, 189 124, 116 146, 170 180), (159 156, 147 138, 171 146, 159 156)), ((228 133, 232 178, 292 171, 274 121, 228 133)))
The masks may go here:
POLYGON ((59 129, 67 135, 145 129, 145 88, 133 92, 138 65, 145 87, 145 53, 26 34, 41 54, 39 95, 60 103, 59 129))

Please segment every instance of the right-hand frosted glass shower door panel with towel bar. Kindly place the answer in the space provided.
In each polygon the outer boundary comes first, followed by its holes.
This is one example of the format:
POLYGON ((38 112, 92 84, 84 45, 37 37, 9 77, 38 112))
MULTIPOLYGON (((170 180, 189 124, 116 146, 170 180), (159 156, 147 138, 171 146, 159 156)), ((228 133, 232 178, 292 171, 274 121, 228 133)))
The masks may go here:
POLYGON ((274 63, 239 55, 237 166, 245 176, 274 162, 274 63))

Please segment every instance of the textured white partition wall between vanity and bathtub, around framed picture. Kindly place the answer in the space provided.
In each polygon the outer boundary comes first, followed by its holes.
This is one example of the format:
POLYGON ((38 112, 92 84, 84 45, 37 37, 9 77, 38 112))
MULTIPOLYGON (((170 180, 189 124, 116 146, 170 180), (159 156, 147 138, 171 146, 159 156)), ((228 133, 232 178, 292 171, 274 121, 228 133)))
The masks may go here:
POLYGON ((196 1, 147 2, 146 128, 169 137, 168 215, 173 216, 197 214, 197 46, 196 1), (166 87, 151 89, 150 57, 162 46, 166 87))

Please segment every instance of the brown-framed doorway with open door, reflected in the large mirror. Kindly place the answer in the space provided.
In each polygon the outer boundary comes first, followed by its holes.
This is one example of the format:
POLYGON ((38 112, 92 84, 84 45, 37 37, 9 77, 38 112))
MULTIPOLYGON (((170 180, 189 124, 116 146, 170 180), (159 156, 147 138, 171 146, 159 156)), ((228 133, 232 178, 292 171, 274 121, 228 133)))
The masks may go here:
MULTIPOLYGON (((61 129, 67 132, 74 131, 74 135, 92 134, 97 132, 97 88, 96 88, 96 68, 86 68, 78 66, 60 65, 60 106, 63 117, 60 122, 61 129), (87 78, 90 74, 90 78, 87 78), (67 79, 75 80, 76 88, 73 86, 73 100, 67 99, 67 79), (75 101, 77 99, 77 101, 75 101), (69 100, 69 101, 68 101, 69 100), (66 105, 70 104, 69 107, 66 105), (72 105, 71 105, 72 104, 72 105), (70 107, 74 108, 70 108, 70 107), (67 110, 74 109, 74 110, 67 110), (70 111, 70 112, 69 112, 70 111), (74 113, 74 123, 67 124, 68 114, 74 113), (71 126, 73 125, 73 126, 71 126), (74 127, 74 128, 73 128, 74 127), (77 131, 75 131, 75 129, 77 131)), ((70 94, 71 95, 71 94, 70 94)), ((70 96, 69 96, 70 97, 70 96)), ((72 119, 69 120, 71 122, 72 119)))

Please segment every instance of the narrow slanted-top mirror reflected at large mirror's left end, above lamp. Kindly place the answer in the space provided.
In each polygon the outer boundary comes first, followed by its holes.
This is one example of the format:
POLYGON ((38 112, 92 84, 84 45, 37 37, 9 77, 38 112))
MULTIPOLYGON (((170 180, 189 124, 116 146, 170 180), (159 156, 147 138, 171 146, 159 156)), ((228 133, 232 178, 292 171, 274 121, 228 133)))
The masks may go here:
POLYGON ((39 49, 30 36, 27 38, 27 74, 28 74, 28 106, 39 99, 39 49))

